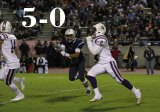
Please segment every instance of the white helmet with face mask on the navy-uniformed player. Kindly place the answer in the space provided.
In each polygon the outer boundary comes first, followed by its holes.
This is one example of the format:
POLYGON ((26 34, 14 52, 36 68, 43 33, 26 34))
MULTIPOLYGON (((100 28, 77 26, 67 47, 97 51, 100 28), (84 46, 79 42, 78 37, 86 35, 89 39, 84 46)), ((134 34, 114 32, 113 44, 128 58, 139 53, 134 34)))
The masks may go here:
POLYGON ((73 29, 66 30, 65 37, 68 42, 71 42, 75 39, 75 31, 73 29))

